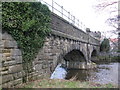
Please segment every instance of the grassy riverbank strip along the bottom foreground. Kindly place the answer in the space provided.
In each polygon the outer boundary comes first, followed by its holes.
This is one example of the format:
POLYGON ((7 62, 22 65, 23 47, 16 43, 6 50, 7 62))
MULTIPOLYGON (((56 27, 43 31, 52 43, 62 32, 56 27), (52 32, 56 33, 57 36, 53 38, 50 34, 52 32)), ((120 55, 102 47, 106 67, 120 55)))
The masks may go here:
POLYGON ((21 84, 16 88, 117 88, 117 85, 99 84, 89 81, 73 81, 60 79, 40 79, 21 84))

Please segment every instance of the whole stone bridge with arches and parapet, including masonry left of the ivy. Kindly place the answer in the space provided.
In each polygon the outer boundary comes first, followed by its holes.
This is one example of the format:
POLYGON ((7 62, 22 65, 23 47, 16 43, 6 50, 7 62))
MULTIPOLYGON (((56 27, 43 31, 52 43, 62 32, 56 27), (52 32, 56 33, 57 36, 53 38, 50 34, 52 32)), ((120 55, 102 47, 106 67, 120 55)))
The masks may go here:
MULTIPOLYGON (((91 62, 92 54, 99 53, 99 40, 78 29, 56 14, 51 14, 52 32, 33 60, 30 79, 49 77, 59 64, 91 62)), ((0 32, 0 73, 2 87, 14 87, 22 83, 25 72, 22 67, 22 54, 16 41, 6 32, 0 32)), ((75 64, 76 66, 76 64, 75 64)), ((74 68, 74 66, 73 66, 74 68)))

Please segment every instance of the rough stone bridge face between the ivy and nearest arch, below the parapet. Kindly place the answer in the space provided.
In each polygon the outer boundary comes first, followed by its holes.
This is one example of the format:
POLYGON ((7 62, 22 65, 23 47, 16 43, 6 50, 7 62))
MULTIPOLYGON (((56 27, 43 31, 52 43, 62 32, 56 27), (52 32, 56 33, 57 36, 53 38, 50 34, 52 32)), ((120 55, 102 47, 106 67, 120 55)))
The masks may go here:
POLYGON ((86 44, 73 39, 51 35, 46 37, 45 44, 33 62, 34 70, 39 75, 50 76, 57 64, 65 63, 63 57, 72 50, 79 50, 86 57, 86 44))

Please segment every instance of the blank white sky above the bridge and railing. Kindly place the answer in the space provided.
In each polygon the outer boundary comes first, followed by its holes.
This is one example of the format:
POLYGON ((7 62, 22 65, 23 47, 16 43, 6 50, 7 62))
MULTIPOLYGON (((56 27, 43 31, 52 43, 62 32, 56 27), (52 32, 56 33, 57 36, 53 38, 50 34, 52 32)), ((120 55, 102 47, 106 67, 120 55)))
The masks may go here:
MULTIPOLYGON (((45 2, 52 4, 52 0, 44 0, 45 2)), ((53 0, 63 8, 74 15, 80 22, 82 22, 86 28, 90 28, 91 31, 100 31, 108 33, 114 28, 110 27, 106 20, 109 18, 110 13, 105 11, 99 11, 95 8, 99 0, 53 0)), ((110 0, 108 0, 110 1, 110 0)), ((54 4, 54 6, 61 10, 60 7, 54 4)), ((85 31, 85 30, 84 30, 85 31)), ((115 35, 107 34, 106 36, 116 37, 115 35)))

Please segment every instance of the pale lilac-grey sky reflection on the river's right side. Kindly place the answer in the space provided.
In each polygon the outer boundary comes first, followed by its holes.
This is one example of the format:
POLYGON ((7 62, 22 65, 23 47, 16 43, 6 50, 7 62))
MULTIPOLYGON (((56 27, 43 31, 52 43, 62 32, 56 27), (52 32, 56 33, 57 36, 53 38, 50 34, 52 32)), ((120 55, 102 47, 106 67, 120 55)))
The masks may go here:
POLYGON ((118 65, 119 63, 99 65, 98 67, 99 72, 96 73, 98 79, 95 79, 94 81, 105 84, 106 83, 118 84, 118 65))

